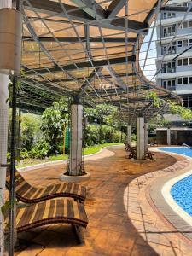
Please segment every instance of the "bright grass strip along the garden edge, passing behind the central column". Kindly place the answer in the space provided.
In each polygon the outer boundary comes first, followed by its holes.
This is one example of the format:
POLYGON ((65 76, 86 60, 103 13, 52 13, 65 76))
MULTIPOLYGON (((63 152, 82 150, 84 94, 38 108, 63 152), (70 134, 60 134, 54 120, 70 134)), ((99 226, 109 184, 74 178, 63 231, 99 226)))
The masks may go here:
MULTIPOLYGON (((99 152, 102 148, 113 146, 113 145, 122 145, 122 143, 105 143, 105 144, 97 144, 88 148, 84 148, 84 155, 86 154, 95 154, 99 152)), ((67 160, 68 155, 65 154, 58 154, 58 155, 51 155, 48 159, 25 159, 20 162, 17 168, 22 168, 26 166, 33 166, 38 164, 43 164, 49 161, 56 161, 56 160, 67 160)))

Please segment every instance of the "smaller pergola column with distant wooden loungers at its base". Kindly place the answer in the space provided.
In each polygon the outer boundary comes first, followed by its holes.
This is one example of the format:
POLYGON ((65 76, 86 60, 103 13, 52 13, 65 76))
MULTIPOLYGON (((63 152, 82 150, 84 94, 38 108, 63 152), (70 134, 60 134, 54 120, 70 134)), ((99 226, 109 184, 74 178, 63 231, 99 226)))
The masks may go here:
POLYGON ((144 152, 144 118, 137 118, 137 160, 145 159, 144 152))

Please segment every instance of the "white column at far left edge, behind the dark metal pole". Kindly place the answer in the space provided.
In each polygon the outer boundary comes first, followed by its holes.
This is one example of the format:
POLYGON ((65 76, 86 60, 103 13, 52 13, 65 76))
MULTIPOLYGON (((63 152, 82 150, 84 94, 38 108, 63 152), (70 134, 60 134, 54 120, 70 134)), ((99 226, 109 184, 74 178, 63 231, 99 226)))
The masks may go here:
MULTIPOLYGON (((1 0, 0 9, 11 8, 11 0, 1 0)), ((9 75, 0 73, 0 165, 7 163, 7 148, 8 148, 8 126, 9 126, 9 75)), ((6 168, 0 166, 0 208, 4 204, 4 189, 6 179, 6 168)), ((4 251, 4 236, 3 236, 3 214, 0 211, 0 256, 3 256, 4 251)))

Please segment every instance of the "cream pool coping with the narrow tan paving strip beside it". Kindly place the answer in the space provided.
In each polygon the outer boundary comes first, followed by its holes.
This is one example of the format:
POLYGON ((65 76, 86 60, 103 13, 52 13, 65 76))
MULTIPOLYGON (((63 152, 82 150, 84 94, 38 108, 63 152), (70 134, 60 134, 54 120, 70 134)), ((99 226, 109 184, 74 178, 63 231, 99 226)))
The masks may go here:
MULTIPOLYGON (((191 218, 191 224, 189 224, 185 218, 183 218, 182 211, 179 211, 180 209, 182 209, 181 207, 179 207, 177 205, 177 202, 174 201, 172 199, 172 201, 167 201, 167 196, 168 199, 170 199, 170 197, 172 197, 170 190, 172 189, 171 183, 169 184, 169 182, 171 182, 172 180, 174 180, 175 178, 181 177, 183 175, 188 176, 187 174, 191 171, 192 172, 192 160, 188 157, 185 156, 183 154, 176 154, 176 153, 170 153, 170 152, 166 152, 166 151, 161 151, 158 150, 158 148, 155 148, 158 152, 164 153, 164 154, 169 154, 171 156, 182 156, 185 160, 188 161, 188 165, 184 166, 182 169, 180 170, 175 170, 174 173, 168 174, 165 177, 160 177, 158 180, 154 180, 153 183, 151 183, 148 187, 148 199, 150 200, 150 204, 153 204, 153 208, 155 208, 154 210, 156 210, 156 212, 158 213, 158 215, 160 216, 160 218, 162 218, 164 220, 164 222, 166 221, 166 224, 168 224, 169 226, 172 227, 173 230, 177 230, 178 233, 180 233, 180 235, 182 235, 185 241, 188 241, 190 243, 190 245, 192 245, 192 218, 189 216, 189 218, 191 218), (166 189, 164 189, 164 194, 162 193, 162 189, 165 187, 166 184, 167 185, 166 189), (166 195, 166 196, 165 196, 166 195), (173 204, 172 204, 173 202, 173 204), (180 209, 179 209, 180 208, 180 209), (176 211, 178 210, 178 212, 176 211)), ((156 151, 155 150, 155 151, 156 151)), ((176 157, 177 159, 177 157, 176 157)), ((179 162, 179 160, 177 160, 177 162, 179 162)), ((178 180, 180 180, 182 178, 178 178, 178 180)), ((176 181, 177 183, 177 181, 176 181)), ((174 183, 172 183, 172 185, 174 185, 174 183)), ((186 214, 188 214, 186 212, 186 214)), ((189 214, 188 214, 189 215, 189 214)))

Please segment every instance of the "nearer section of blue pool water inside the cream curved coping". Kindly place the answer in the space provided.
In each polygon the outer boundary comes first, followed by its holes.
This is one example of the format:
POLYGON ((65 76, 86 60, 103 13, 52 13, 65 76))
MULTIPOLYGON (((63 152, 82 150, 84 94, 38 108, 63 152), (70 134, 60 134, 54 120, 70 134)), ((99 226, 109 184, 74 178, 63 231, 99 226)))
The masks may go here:
POLYGON ((177 204, 192 216, 192 175, 175 183, 172 186, 171 195, 177 204))

